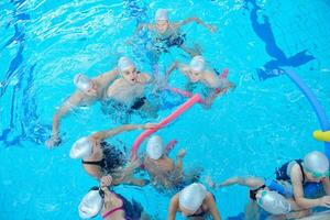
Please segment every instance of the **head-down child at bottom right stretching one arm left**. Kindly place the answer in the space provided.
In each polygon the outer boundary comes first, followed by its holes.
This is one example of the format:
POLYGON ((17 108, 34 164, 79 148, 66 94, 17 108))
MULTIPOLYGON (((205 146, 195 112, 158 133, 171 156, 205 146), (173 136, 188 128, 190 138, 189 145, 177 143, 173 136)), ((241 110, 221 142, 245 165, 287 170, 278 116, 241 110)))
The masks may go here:
POLYGON ((264 219, 271 213, 276 219, 301 218, 309 215, 309 210, 302 210, 292 198, 292 187, 285 183, 260 177, 231 177, 221 184, 215 184, 210 178, 208 185, 212 188, 228 187, 232 185, 250 188, 250 202, 245 207, 245 219, 264 219))

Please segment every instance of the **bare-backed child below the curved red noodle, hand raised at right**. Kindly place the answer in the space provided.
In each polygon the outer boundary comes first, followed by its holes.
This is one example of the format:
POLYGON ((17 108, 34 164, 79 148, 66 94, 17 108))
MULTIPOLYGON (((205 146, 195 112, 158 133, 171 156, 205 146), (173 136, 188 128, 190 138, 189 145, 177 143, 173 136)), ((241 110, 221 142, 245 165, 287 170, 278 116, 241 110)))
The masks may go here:
MULTIPOLYGON (((168 153, 168 152, 167 152, 168 153)), ((167 156, 163 140, 158 135, 153 135, 146 145, 146 155, 143 160, 144 169, 148 173, 152 183, 157 188, 179 188, 186 182, 197 180, 199 174, 185 175, 183 170, 183 157, 185 150, 180 150, 174 160, 167 156), (190 179, 189 179, 190 178, 190 179)))

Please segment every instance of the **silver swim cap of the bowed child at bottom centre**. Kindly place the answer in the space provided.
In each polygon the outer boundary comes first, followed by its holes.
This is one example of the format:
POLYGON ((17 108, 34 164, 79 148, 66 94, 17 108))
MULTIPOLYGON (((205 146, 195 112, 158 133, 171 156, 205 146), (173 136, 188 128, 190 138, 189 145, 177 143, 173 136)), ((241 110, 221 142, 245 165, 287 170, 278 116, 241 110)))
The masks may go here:
POLYGON ((179 206, 195 212, 201 206, 206 195, 204 185, 190 184, 179 193, 179 206))

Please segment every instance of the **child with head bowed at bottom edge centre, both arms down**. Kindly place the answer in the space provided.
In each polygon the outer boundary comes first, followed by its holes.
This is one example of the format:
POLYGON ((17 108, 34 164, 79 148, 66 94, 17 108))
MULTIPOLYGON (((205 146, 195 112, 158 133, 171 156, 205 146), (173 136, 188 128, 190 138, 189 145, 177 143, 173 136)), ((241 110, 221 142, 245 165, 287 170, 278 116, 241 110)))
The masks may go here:
POLYGON ((174 195, 169 201, 167 220, 174 220, 177 212, 190 220, 202 220, 212 217, 220 220, 216 200, 201 184, 191 184, 174 195))

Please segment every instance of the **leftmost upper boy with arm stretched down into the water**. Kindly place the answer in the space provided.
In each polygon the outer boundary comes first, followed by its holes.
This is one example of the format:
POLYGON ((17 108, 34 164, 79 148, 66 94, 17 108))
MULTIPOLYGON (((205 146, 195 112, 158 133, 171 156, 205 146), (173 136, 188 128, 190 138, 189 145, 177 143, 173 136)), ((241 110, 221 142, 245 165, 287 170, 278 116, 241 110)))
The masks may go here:
POLYGON ((106 98, 106 91, 109 84, 118 76, 117 69, 107 72, 95 78, 88 78, 84 74, 77 74, 74 84, 77 90, 70 95, 53 117, 53 134, 46 141, 48 147, 54 147, 61 143, 59 122, 69 111, 76 107, 90 106, 96 101, 106 98))

